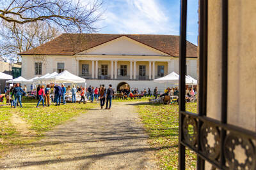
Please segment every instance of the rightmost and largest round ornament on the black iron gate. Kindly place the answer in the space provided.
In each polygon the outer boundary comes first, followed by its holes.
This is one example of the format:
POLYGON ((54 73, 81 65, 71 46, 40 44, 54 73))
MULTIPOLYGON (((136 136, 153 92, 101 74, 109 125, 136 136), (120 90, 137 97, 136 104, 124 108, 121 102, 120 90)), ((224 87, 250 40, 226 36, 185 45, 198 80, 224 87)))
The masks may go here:
POLYGON ((229 169, 256 169, 255 148, 250 139, 229 133, 224 146, 226 166, 229 169))

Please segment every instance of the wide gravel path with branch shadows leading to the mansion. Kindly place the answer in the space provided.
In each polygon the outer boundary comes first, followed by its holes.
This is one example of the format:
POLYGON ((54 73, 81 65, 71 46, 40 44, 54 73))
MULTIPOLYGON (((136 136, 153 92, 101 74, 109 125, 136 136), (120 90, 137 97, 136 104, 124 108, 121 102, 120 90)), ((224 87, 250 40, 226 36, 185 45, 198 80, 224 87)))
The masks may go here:
POLYGON ((89 110, 0 159, 0 169, 157 169, 136 107, 89 110))

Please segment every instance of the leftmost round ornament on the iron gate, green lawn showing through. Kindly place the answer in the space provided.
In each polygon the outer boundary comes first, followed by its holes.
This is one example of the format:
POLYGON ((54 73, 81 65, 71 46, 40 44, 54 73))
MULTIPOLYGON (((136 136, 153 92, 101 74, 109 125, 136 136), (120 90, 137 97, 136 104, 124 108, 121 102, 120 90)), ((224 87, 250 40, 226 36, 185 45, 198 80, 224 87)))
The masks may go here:
POLYGON ((194 146, 196 144, 196 138, 198 135, 195 118, 191 118, 188 116, 185 117, 182 125, 182 131, 186 143, 188 143, 191 146, 194 146))

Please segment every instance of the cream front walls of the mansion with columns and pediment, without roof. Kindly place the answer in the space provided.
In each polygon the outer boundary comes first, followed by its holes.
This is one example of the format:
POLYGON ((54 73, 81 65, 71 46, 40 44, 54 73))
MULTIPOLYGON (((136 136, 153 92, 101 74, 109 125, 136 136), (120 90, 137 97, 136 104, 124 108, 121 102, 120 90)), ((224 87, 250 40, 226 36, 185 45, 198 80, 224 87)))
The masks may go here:
MULTIPOLYGON (((22 55, 22 76, 33 78, 58 71, 58 63, 63 63, 64 69, 70 73, 86 78, 88 85, 92 80, 115 80, 116 83, 146 80, 149 86, 151 84, 154 87, 155 78, 172 71, 179 74, 178 57, 124 36, 75 55, 22 55), (35 62, 42 62, 42 74, 35 74, 35 62), (163 74, 157 74, 159 66, 163 69, 163 74)), ((197 59, 188 58, 187 64, 187 74, 197 78, 197 59)))

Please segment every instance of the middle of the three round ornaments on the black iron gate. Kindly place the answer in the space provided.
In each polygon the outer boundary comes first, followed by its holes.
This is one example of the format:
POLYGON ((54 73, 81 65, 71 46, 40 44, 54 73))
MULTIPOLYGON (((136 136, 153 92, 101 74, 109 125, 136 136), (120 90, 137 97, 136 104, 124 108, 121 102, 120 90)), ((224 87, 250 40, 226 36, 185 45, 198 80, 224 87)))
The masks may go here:
POLYGON ((220 155, 220 132, 212 125, 204 123, 200 129, 202 152, 214 160, 220 155))

